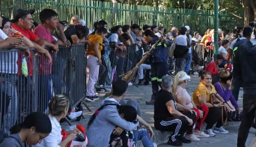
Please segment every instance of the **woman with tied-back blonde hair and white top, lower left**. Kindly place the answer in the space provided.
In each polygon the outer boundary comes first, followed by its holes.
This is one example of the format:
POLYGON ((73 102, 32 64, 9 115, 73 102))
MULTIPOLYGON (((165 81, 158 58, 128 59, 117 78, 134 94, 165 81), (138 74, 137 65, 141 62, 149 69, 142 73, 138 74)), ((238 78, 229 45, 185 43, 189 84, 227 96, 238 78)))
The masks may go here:
POLYGON ((69 132, 69 135, 62 141, 60 119, 65 118, 68 113, 69 100, 67 96, 56 95, 52 97, 49 103, 49 118, 52 124, 52 132, 49 136, 45 137, 41 144, 36 147, 42 146, 67 146, 70 141, 73 141, 78 134, 77 129, 69 132))

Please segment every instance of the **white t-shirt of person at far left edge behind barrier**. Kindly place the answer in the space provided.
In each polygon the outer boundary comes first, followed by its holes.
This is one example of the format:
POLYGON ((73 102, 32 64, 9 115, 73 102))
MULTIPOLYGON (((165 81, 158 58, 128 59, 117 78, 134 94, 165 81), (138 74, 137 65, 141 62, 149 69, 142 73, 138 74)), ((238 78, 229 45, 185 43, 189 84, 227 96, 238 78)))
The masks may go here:
MULTIPOLYGON (((4 40, 8 38, 8 36, 2 31, 2 29, 0 29, 0 37, 4 40)), ((0 66, 0 72, 7 73, 7 74, 17 74, 18 72, 17 60, 18 60, 18 52, 1 53, 1 62, 3 66, 0 66)))

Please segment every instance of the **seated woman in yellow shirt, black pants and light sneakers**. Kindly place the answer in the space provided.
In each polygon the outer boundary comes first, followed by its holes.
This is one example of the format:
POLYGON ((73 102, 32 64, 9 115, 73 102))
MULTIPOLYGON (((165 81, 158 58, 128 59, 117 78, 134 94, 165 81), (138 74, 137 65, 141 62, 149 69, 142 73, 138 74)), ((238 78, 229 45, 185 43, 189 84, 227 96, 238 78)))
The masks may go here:
MULTIPOLYGON (((215 93, 218 95, 218 93, 215 91, 215 87, 211 84, 212 83, 212 74, 211 72, 203 71, 201 75, 201 83, 197 86, 193 93, 193 101, 196 105, 196 107, 199 108, 199 105, 207 105, 209 108, 208 115, 205 118, 205 123, 207 123, 206 131, 205 133, 210 136, 215 136, 215 133, 228 133, 227 130, 225 130, 222 127, 222 120, 221 120, 221 107, 223 105, 221 103, 219 104, 211 104, 211 94, 215 93), (212 130, 213 125, 217 123, 217 125, 214 127, 214 130, 212 130)), ((223 100, 222 100, 223 101, 223 100)))

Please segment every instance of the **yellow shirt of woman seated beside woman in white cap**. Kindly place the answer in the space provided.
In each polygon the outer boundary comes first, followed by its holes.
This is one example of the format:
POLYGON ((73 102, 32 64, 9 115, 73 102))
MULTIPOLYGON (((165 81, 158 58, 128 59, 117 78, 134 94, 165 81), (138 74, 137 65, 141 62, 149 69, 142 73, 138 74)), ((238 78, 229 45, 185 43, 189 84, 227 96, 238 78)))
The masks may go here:
POLYGON ((193 97, 192 97, 192 100, 196 106, 200 105, 200 102, 198 101, 198 97, 203 96, 203 95, 206 95, 206 102, 210 103, 210 95, 212 93, 217 93, 215 90, 215 87, 212 84, 211 84, 211 88, 212 88, 212 90, 209 91, 209 90, 207 90, 206 86, 202 82, 199 83, 199 85, 195 89, 195 91, 193 93, 193 97))

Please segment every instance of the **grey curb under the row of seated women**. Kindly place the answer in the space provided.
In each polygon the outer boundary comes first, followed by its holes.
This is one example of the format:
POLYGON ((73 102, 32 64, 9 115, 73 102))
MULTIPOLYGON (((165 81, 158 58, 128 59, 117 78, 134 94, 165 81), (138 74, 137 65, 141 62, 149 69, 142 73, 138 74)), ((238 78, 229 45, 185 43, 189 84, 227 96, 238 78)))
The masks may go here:
MULTIPOLYGON (((239 122, 239 121, 237 121, 237 122, 229 121, 223 127, 225 127, 225 128, 237 127, 237 126, 240 126, 240 124, 241 124, 241 122, 239 122)), ((206 123, 203 123, 202 128, 205 129, 205 127, 206 127, 206 123)), ((171 135, 171 132, 162 132, 160 130, 156 130, 154 126, 152 126, 152 129, 154 131, 153 143, 156 143, 157 145, 161 145, 168 141, 168 139, 169 139, 168 136, 171 135)), ((204 130, 204 129, 202 129, 202 130, 204 130)), ((138 141, 137 147, 143 147, 143 144, 141 141, 138 141)))

